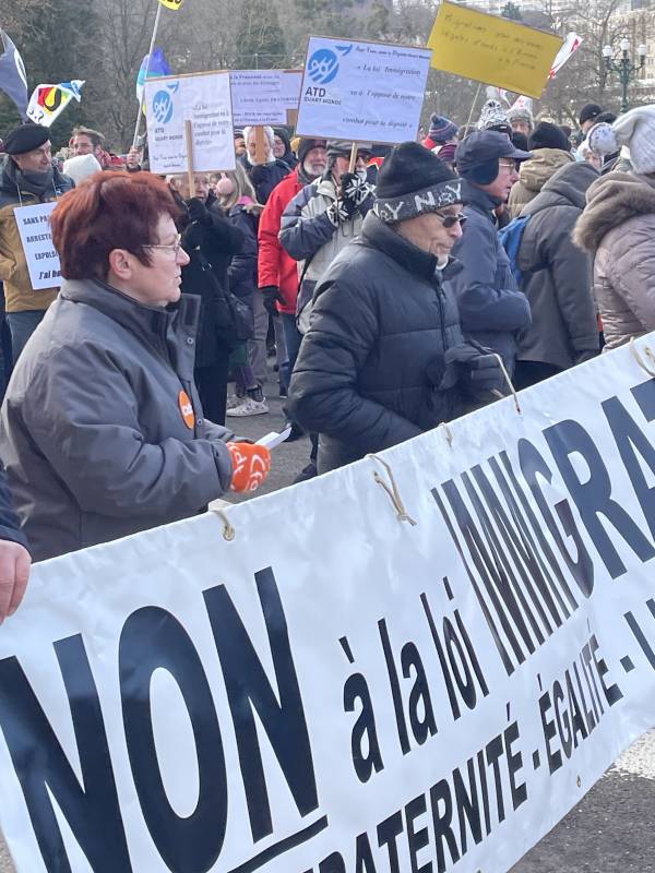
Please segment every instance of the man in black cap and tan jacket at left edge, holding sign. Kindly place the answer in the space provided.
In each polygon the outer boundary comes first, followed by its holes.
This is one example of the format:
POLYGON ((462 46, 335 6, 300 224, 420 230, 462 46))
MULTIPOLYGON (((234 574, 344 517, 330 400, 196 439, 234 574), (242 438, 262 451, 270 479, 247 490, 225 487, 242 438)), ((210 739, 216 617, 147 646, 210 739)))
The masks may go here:
MULTIPOLYGON (((52 167, 50 131, 40 124, 23 124, 4 140, 9 155, 0 179, 0 280, 4 284, 7 322, 11 331, 13 359, 46 314, 57 296, 58 283, 34 290, 27 259, 19 232, 16 208, 47 203, 73 188, 68 176, 52 167)), ((33 236, 48 234, 36 226, 33 236)))

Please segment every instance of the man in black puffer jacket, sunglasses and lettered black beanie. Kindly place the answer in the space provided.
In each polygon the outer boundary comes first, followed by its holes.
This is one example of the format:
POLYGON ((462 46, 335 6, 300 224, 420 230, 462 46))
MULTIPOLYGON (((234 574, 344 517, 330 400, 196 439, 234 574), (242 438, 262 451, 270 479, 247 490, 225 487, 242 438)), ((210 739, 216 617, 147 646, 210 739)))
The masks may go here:
POLYGON ((500 388, 498 360, 464 342, 449 288, 461 181, 418 143, 396 146, 361 236, 314 291, 289 411, 320 433, 319 473, 455 418, 500 388))

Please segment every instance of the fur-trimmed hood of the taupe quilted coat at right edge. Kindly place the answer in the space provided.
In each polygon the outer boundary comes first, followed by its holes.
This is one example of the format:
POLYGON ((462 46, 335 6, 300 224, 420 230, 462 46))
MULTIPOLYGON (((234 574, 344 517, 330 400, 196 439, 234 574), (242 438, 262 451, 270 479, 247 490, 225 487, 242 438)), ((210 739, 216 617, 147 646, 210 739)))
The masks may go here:
POLYGON ((655 178, 610 172, 590 187, 586 200, 587 206, 573 230, 573 241, 595 253, 615 227, 639 215, 655 214, 655 178))

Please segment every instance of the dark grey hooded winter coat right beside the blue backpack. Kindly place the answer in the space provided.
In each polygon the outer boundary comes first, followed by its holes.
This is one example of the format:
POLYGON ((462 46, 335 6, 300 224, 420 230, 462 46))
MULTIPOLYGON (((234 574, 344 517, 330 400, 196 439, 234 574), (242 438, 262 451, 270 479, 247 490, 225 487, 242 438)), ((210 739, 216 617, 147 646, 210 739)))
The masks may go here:
POLYGON ((520 336, 519 360, 565 370, 581 352, 599 351, 592 261, 571 238, 585 192, 597 178, 591 164, 567 164, 522 212, 531 218, 516 264, 532 325, 520 336))

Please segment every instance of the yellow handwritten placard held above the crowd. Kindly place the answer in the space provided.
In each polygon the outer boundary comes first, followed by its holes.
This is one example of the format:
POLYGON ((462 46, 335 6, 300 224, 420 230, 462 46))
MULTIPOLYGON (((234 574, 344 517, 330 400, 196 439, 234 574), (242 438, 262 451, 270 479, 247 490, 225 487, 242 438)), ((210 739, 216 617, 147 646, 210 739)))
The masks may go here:
POLYGON ((428 48, 437 70, 540 97, 562 41, 556 34, 442 0, 428 48))

